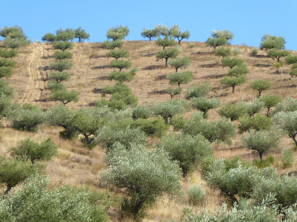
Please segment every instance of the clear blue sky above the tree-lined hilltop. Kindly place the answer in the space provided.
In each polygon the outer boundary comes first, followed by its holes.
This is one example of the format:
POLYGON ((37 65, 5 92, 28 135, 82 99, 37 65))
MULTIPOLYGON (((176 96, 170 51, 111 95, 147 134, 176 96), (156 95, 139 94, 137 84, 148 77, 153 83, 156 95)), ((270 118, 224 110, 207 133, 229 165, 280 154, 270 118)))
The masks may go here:
POLYGON ((232 44, 259 46, 263 34, 282 36, 286 49, 297 50, 296 0, 2 0, 0 28, 19 25, 33 41, 60 27, 81 26, 89 42, 106 40, 106 31, 128 25, 127 40, 143 40, 143 27, 178 24, 190 32, 188 41, 205 41, 211 30, 234 33, 232 44))

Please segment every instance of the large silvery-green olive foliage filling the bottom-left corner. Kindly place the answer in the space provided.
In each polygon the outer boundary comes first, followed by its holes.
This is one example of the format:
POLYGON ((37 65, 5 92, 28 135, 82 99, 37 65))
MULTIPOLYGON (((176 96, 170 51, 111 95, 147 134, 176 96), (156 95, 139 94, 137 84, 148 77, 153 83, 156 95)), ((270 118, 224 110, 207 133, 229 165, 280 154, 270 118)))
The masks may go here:
POLYGON ((90 192, 69 186, 48 190, 48 176, 32 176, 18 190, 0 201, 2 222, 101 222, 108 216, 101 206, 91 205, 90 192))

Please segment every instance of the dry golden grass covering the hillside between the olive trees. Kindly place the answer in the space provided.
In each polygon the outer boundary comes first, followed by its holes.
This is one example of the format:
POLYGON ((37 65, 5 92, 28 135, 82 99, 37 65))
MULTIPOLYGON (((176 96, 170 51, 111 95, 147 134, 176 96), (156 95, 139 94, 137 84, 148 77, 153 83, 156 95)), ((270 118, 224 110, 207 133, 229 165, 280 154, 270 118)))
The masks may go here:
MULTIPOLYGON (((213 91, 210 97, 214 96, 222 101, 222 104, 236 102, 239 99, 249 101, 257 98, 257 91, 249 88, 248 83, 254 79, 263 78, 270 80, 272 89, 264 91, 263 94, 279 94, 291 96, 297 99, 297 78, 289 75, 290 66, 285 63, 280 67, 279 74, 273 66, 273 61, 266 57, 265 51, 259 51, 259 54, 252 56, 252 48, 248 46, 231 46, 231 49, 238 47, 240 54, 238 57, 244 59, 247 63, 250 73, 247 74, 247 83, 236 86, 235 93, 232 88, 226 88, 220 83, 220 78, 227 74, 227 68, 220 65, 220 57, 213 54, 213 48, 207 47, 204 43, 195 42, 195 47, 190 48, 190 43, 181 42, 181 52, 179 57, 189 56, 191 65, 187 70, 192 71, 195 84, 206 81, 211 84, 213 91)), ((175 68, 168 66, 165 68, 165 61, 156 61, 155 54, 162 50, 154 41, 125 41, 124 49, 131 54, 130 60, 133 67, 138 67, 138 73, 132 82, 127 83, 132 89, 132 93, 138 97, 138 102, 147 100, 165 101, 170 99, 170 95, 164 92, 169 86, 169 81, 165 75, 174 73, 175 68)), ((51 91, 47 88, 47 75, 49 73, 48 65, 54 62, 52 46, 49 43, 33 43, 29 47, 18 50, 19 55, 15 58, 18 67, 14 69, 12 78, 8 79, 10 85, 17 91, 16 102, 29 102, 42 107, 44 110, 58 104, 48 98, 51 91)), ((108 58, 108 50, 101 49, 100 43, 75 43, 74 54, 71 62, 75 67, 68 71, 71 74, 71 80, 64 82, 69 90, 75 89, 79 93, 78 103, 68 103, 67 107, 78 108, 94 105, 94 102, 100 99, 100 90, 113 82, 107 80, 107 76, 112 72, 109 67, 113 58, 108 58)), ((295 52, 292 52, 296 54, 295 52)), ((185 88, 185 85, 181 85, 185 88)), ((183 94, 180 96, 183 97, 183 94)), ((186 113, 189 116, 191 112, 186 113)), ((209 111, 209 120, 220 118, 216 110, 209 111)), ((100 147, 89 150, 82 146, 79 140, 64 140, 59 138, 59 129, 55 127, 43 126, 38 133, 21 132, 10 127, 9 122, 4 123, 4 128, 0 129, 0 154, 8 153, 11 146, 15 146, 20 140, 31 137, 37 141, 51 136, 53 141, 59 146, 59 155, 48 163, 47 173, 49 173, 53 184, 71 184, 73 186, 88 185, 93 189, 101 190, 98 186, 99 172, 106 165, 103 162, 105 152, 100 147)), ((241 148, 238 135, 233 141, 233 145, 228 147, 222 143, 213 143, 215 157, 230 158, 240 155, 244 159, 252 161, 258 159, 257 153, 241 148)), ((154 144, 158 141, 156 138, 150 138, 149 143, 154 144)), ((282 147, 293 147, 293 141, 284 136, 282 147)), ((275 163, 280 173, 286 171, 293 172, 297 170, 296 161, 292 168, 283 170, 281 161, 278 161, 280 152, 267 152, 265 155, 273 155, 275 163), (279 162, 279 163, 278 163, 279 162)), ((295 153, 296 155, 296 153, 295 153)), ((184 190, 191 184, 203 184, 199 173, 190 175, 189 181, 182 181, 184 190)), ((186 196, 185 196, 186 200, 186 196)), ((206 207, 213 210, 219 205, 219 193, 206 189, 206 199, 198 205, 197 209, 206 207)), ((165 199, 159 202, 154 209, 149 211, 149 217, 144 221, 170 221, 170 218, 179 219, 182 208, 188 206, 187 201, 173 202, 165 199)), ((110 212, 113 221, 119 221, 117 214, 110 212)), ((121 220, 122 221, 122 220, 121 220)), ((129 221, 129 219, 125 219, 129 221)))

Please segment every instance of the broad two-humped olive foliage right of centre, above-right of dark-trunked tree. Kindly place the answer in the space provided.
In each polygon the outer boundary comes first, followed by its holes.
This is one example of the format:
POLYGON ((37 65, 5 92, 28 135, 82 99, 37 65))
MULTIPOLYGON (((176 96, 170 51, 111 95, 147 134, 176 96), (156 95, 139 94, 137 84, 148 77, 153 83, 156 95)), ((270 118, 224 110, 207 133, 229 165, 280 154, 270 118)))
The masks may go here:
POLYGON ((203 118, 203 112, 194 112, 189 120, 185 121, 183 133, 202 134, 210 143, 222 141, 231 145, 231 139, 236 136, 237 128, 226 118, 208 122, 203 118))

